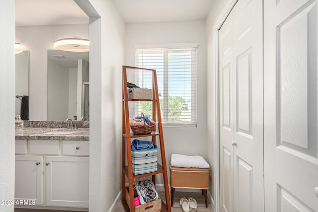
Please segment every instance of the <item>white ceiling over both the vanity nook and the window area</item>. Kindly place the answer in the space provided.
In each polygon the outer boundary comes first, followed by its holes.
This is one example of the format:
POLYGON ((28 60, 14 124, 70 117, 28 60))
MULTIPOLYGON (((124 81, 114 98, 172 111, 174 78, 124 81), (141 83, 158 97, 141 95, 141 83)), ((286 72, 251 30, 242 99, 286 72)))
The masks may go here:
MULTIPOLYGON (((205 19, 213 0, 113 0, 126 23, 205 19)), ((88 23, 74 0, 15 0, 16 26, 88 23)))

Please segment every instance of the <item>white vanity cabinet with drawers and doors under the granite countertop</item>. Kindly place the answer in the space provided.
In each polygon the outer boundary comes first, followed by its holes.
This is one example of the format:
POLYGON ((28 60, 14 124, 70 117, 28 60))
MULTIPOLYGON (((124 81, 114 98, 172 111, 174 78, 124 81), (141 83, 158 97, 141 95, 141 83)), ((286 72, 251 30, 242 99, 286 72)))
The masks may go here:
POLYGON ((88 208, 89 141, 15 143, 15 200, 29 200, 43 209, 88 208))

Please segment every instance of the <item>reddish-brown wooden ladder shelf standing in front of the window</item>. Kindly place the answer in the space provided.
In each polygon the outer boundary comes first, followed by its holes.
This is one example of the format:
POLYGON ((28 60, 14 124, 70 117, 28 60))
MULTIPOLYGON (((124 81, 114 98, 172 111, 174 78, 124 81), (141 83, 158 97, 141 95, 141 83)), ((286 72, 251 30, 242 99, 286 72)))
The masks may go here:
MULTIPOLYGON (((160 116, 160 105, 159 105, 159 91, 157 84, 157 75, 156 70, 153 69, 143 69, 137 67, 129 67, 123 66, 123 116, 122 116, 122 177, 121 177, 121 197, 122 204, 126 212, 135 212, 134 206, 134 180, 152 176, 152 181, 156 185, 156 175, 163 174, 163 182, 164 182, 164 193, 165 193, 165 204, 161 201, 161 211, 162 212, 171 212, 171 204, 169 197, 169 186, 168 186, 168 177, 167 177, 167 166, 165 162, 165 152, 164 152, 164 142, 163 142, 163 134, 162 134, 162 124, 161 124, 161 116, 160 116), (129 99, 128 91, 127 91, 127 69, 129 70, 144 70, 144 71, 152 71, 152 79, 153 79, 153 99, 129 99), (156 128, 154 128, 153 132, 148 135, 131 135, 130 126, 129 126, 129 108, 128 103, 130 101, 151 101, 152 106, 152 119, 157 122, 156 128), (157 111, 157 121, 156 121, 156 111, 157 111), (160 154, 161 154, 161 164, 158 163, 158 171, 146 173, 146 174, 133 174, 132 168, 132 153, 131 153, 131 139, 132 138, 140 138, 140 137, 152 137, 152 141, 156 144, 156 137, 159 137, 160 141, 160 154), (127 150, 127 165, 126 165, 126 150, 127 150), (126 201, 126 176, 129 181, 129 202, 126 201), (129 207, 130 206, 130 207, 129 207)), ((159 148, 158 148, 159 151, 159 148)), ((151 210, 149 210, 151 211, 151 210)))

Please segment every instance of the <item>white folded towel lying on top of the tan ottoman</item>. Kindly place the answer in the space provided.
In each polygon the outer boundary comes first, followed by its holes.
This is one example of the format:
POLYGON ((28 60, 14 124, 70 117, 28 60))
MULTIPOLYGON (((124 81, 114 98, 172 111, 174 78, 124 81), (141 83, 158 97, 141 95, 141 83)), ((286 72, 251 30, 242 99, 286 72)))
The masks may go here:
POLYGON ((204 160, 202 156, 194 155, 188 156, 184 154, 171 154, 170 160, 171 166, 183 167, 183 168, 210 168, 207 161, 204 160))

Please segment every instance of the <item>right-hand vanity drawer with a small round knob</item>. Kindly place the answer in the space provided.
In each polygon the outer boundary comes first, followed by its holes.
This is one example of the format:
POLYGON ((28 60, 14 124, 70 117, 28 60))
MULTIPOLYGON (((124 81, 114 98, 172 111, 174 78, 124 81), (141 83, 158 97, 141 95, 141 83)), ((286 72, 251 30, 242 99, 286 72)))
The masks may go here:
POLYGON ((62 141, 62 154, 89 155, 88 141, 62 141))

